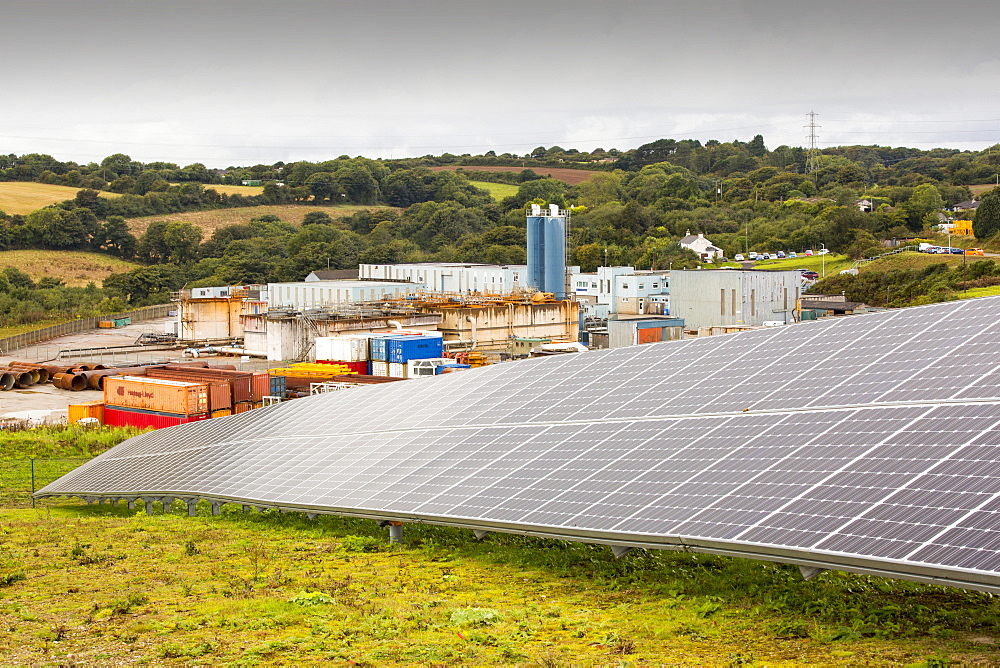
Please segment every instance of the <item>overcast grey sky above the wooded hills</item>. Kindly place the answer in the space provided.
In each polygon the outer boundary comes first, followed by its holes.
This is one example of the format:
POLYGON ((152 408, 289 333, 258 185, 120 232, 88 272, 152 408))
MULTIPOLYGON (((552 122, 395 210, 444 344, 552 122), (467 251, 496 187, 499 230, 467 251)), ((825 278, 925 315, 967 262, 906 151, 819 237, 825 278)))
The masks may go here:
POLYGON ((1000 142, 996 0, 0 0, 0 153, 1000 142))

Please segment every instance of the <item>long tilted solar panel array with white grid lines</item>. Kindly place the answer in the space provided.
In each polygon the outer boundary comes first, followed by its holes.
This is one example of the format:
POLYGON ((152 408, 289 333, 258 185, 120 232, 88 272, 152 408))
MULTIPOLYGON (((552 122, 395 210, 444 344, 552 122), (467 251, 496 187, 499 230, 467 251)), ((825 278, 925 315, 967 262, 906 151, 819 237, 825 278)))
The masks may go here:
POLYGON ((139 436, 41 496, 164 496, 1000 591, 1000 298, 561 355, 139 436))

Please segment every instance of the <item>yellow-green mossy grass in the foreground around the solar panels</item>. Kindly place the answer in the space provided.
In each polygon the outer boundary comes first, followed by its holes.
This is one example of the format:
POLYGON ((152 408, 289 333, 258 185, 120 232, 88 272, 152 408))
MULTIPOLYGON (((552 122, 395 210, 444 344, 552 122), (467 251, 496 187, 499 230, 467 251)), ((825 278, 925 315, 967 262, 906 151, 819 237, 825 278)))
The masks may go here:
MULTIPOLYGON (((14 460, 93 456, 130 433, 0 432, 0 488, 14 460)), ((1000 601, 973 592, 420 524, 390 546, 370 520, 234 504, 154 512, 0 510, 0 664, 1000 661, 1000 601)))

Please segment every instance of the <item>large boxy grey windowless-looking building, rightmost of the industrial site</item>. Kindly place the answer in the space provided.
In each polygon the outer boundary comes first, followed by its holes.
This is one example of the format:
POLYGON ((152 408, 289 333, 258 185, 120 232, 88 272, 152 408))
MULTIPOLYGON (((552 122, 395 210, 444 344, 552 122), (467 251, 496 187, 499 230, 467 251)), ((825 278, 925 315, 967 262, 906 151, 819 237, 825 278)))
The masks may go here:
POLYGON ((689 330, 790 324, 802 290, 797 271, 701 269, 670 276, 670 315, 689 330))

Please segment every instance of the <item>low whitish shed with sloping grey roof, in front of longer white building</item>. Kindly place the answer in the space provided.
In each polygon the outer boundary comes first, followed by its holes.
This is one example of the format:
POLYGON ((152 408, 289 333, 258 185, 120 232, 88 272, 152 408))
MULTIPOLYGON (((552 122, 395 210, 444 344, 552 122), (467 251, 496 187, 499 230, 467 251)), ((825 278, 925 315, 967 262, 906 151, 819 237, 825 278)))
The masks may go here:
POLYGON ((340 306, 379 299, 399 299, 414 294, 424 285, 407 281, 310 281, 268 283, 268 308, 311 309, 340 306))

